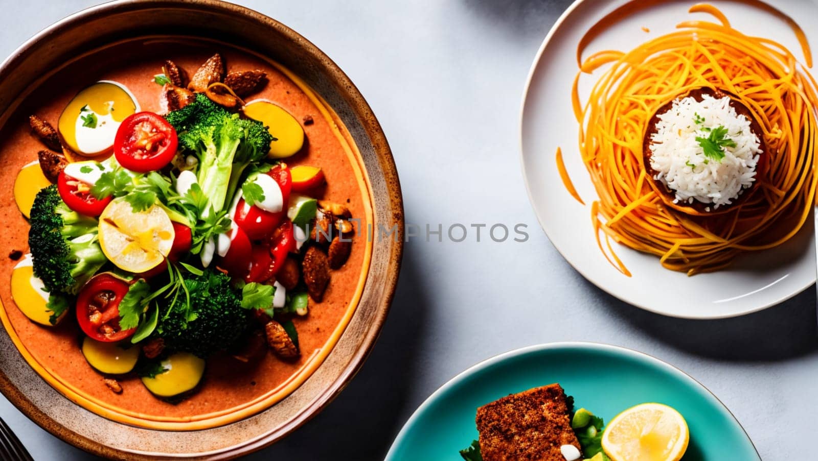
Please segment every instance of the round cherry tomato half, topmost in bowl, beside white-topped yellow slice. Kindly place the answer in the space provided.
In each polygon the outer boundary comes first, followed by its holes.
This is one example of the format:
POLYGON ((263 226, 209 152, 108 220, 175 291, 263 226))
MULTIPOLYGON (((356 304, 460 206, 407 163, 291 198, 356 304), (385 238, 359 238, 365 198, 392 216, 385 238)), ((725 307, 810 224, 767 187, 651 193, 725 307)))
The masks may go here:
POLYGON ((134 172, 152 172, 170 163, 176 154, 176 130, 153 112, 129 115, 114 138, 116 161, 134 172))

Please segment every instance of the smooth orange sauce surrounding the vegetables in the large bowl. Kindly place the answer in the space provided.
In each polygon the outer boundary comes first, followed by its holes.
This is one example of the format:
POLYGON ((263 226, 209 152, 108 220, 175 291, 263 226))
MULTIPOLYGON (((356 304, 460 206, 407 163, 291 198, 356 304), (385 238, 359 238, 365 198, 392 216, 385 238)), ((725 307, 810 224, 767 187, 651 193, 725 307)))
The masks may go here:
POLYGON ((56 327, 44 327, 26 318, 11 299, 8 280, 16 262, 5 257, 13 250, 28 251, 29 225, 17 209, 12 188, 0 190, 0 320, 29 365, 71 401, 106 418, 140 427, 195 430, 215 427, 265 410, 293 392, 331 351, 353 316, 369 269, 371 242, 366 229, 372 225, 371 189, 352 138, 335 112, 299 78, 272 61, 219 43, 199 40, 173 41, 156 38, 118 43, 65 65, 45 79, 21 102, 16 114, 0 132, 0 172, 11 184, 26 163, 44 149, 29 134, 28 116, 38 114, 56 126, 62 110, 83 87, 110 80, 128 87, 142 110, 160 112, 162 87, 153 76, 165 59, 174 60, 188 74, 196 71, 214 52, 231 69, 262 69, 268 83, 253 98, 273 101, 303 123, 308 142, 290 166, 321 167, 327 185, 319 199, 347 206, 357 235, 348 262, 331 271, 322 302, 310 300, 309 314, 294 319, 302 356, 294 362, 277 359, 268 352, 262 360, 245 364, 227 354, 209 358, 200 387, 187 399, 172 404, 162 401, 135 375, 119 378, 121 394, 111 392, 83 358, 82 332, 74 311, 56 327))

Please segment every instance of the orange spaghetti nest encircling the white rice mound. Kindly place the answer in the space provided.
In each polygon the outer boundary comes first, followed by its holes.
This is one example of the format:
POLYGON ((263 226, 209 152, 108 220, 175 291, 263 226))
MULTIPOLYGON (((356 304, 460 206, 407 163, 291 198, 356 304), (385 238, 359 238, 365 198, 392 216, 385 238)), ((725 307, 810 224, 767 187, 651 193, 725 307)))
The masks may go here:
POLYGON ((717 271, 738 253, 772 248, 793 237, 814 202, 815 80, 779 43, 732 29, 715 8, 699 11, 710 12, 721 24, 688 21, 627 53, 602 51, 585 60, 585 73, 613 65, 584 108, 579 74, 574 83, 582 160, 599 195, 591 205, 597 243, 626 275, 610 239, 658 255, 674 271, 717 271), (758 172, 753 194, 729 211, 695 216, 667 206, 651 188, 642 142, 660 107, 701 87, 730 92, 753 113, 762 128, 757 134, 766 141, 768 167, 758 172))

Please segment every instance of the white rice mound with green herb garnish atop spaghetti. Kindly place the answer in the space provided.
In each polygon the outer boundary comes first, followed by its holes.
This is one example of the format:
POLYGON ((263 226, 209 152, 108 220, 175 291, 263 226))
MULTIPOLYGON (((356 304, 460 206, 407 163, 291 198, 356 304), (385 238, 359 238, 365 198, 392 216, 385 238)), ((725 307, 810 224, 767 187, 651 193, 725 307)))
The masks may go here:
POLYGON ((729 96, 703 95, 702 101, 688 96, 658 114, 656 132, 650 136, 650 166, 657 172, 654 178, 676 193, 675 203, 698 200, 715 209, 729 205, 753 185, 760 144, 750 120, 736 114, 729 96), (697 115, 702 123, 695 122, 697 115), (708 137, 703 128, 720 126, 727 128, 735 147, 724 146, 724 158, 717 161, 704 155, 696 137, 708 137))

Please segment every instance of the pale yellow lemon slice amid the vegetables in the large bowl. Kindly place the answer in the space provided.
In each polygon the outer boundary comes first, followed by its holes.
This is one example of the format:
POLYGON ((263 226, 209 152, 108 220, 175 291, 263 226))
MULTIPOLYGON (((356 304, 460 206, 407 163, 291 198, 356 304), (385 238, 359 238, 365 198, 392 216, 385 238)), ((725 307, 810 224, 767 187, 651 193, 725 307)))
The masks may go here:
POLYGON ((168 213, 156 205, 137 213, 124 199, 115 199, 100 215, 102 253, 124 271, 158 266, 170 253, 173 237, 168 213))

